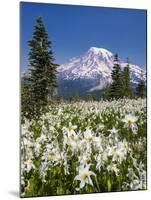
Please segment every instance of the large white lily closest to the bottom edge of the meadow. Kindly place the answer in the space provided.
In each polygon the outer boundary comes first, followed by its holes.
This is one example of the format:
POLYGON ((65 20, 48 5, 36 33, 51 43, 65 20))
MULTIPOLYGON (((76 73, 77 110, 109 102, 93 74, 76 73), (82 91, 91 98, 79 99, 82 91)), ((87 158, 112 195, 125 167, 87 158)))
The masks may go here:
POLYGON ((96 176, 94 172, 89 171, 89 165, 82 165, 79 168, 79 174, 74 178, 74 180, 79 180, 80 182, 80 189, 82 189, 85 184, 89 184, 93 186, 93 182, 91 180, 91 176, 96 176))

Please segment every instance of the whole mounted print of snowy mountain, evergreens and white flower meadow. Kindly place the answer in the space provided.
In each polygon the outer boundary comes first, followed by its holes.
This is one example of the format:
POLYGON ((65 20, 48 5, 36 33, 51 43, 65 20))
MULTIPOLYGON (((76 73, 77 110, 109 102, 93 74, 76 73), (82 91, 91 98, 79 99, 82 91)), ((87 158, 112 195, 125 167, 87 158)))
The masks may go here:
POLYGON ((20 196, 146 190, 146 11, 20 6, 20 196))

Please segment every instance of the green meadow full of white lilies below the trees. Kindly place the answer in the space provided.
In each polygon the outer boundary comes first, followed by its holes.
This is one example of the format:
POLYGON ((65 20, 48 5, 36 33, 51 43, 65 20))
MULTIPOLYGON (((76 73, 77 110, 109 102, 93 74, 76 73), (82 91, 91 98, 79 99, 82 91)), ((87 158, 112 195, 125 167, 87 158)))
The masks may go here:
POLYGON ((21 124, 21 196, 146 189, 146 99, 52 104, 21 124))

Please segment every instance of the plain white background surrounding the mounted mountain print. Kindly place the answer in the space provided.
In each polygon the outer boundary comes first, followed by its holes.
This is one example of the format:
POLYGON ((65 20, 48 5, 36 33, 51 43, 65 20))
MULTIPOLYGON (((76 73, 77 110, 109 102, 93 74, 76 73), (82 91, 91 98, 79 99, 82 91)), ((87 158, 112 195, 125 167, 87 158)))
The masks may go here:
MULTIPOLYGON (((27 0, 27 2, 29 2, 27 0)), ((140 8, 148 10, 148 191, 104 193, 42 199, 149 199, 151 195, 151 6, 150 0, 32 0, 32 2, 140 8)), ((139 23, 139 22, 138 22, 139 23)), ((19 188, 19 1, 0 6, 0 199, 18 198, 19 188)), ((32 198, 33 200, 35 198, 32 198)))

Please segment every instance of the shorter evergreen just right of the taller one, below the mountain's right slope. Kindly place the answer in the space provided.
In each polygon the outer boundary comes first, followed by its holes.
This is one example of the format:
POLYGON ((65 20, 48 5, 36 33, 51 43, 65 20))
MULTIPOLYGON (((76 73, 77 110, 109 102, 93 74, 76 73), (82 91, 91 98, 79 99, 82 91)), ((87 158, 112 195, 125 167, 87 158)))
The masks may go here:
POLYGON ((132 87, 130 82, 130 68, 129 68, 129 61, 127 59, 127 66, 124 67, 124 70, 122 72, 122 91, 123 97, 131 97, 132 96, 132 87))

